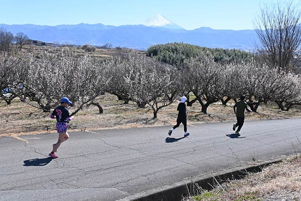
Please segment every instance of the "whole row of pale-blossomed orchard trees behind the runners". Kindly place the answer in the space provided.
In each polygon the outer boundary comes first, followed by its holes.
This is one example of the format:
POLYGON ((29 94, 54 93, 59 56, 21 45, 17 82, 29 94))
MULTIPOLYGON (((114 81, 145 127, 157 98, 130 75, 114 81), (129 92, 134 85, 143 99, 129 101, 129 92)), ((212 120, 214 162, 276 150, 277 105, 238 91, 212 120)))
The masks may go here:
POLYGON ((207 52, 190 58, 183 68, 134 53, 103 60, 70 51, 8 55, 1 57, 0 84, 9 101, 19 96, 23 101, 48 112, 62 96, 73 100, 74 112, 95 104, 104 91, 115 94, 124 103, 152 108, 154 118, 160 109, 182 95, 194 94, 189 105, 199 102, 202 112, 223 100, 236 100, 246 94, 247 103, 256 112, 261 103, 275 102, 281 110, 301 103, 301 80, 256 60, 239 63, 215 62, 207 52), (38 105, 38 106, 37 106, 38 105))

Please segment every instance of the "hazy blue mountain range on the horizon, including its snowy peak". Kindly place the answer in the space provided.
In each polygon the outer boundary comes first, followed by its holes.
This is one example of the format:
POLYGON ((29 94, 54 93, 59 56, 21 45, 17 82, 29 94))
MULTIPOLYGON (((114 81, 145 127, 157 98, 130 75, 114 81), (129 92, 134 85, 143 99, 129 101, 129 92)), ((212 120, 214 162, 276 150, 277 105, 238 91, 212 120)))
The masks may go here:
POLYGON ((167 18, 156 15, 140 25, 110 26, 103 24, 78 25, 6 25, 0 27, 16 34, 23 32, 30 39, 74 45, 104 45, 147 49, 150 45, 184 42, 204 47, 253 49, 257 42, 254 30, 214 30, 201 27, 185 30, 167 18))

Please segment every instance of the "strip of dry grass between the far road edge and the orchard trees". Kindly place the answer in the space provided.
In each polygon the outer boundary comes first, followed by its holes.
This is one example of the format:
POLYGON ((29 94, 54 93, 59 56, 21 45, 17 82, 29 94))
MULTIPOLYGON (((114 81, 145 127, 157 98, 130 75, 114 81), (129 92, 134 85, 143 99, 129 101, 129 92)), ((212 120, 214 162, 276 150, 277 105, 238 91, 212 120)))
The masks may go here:
MULTIPOLYGON (((98 98, 104 110, 99 115, 95 106, 85 108, 75 115, 75 120, 70 123, 71 130, 97 130, 114 128, 134 128, 173 125, 177 118, 177 105, 163 108, 158 113, 158 119, 153 119, 153 111, 150 108, 137 108, 135 103, 123 104, 115 95, 105 94, 98 98)), ((188 123, 207 123, 219 121, 235 121, 233 114, 233 103, 222 106, 220 103, 208 108, 208 114, 201 113, 201 105, 196 102, 188 107, 188 123)), ((72 108, 70 109, 72 112, 72 108)), ((0 137, 5 135, 35 134, 44 132, 56 132, 55 120, 49 118, 50 113, 14 99, 12 105, 7 106, 5 102, 0 103, 0 137)), ((278 119, 300 117, 297 109, 289 112, 281 112, 273 105, 262 105, 258 113, 246 114, 246 120, 278 119)))

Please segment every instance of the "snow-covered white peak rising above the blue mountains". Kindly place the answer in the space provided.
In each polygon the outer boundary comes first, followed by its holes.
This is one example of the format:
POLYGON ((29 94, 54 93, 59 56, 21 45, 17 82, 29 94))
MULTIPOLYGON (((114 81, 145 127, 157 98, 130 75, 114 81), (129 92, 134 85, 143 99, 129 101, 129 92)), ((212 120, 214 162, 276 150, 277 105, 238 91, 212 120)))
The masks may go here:
POLYGON ((143 21, 141 23, 144 26, 147 27, 160 27, 160 28, 166 28, 166 29, 183 29, 179 25, 176 25, 175 23, 168 20, 166 17, 157 14, 151 18, 148 18, 147 20, 143 21))

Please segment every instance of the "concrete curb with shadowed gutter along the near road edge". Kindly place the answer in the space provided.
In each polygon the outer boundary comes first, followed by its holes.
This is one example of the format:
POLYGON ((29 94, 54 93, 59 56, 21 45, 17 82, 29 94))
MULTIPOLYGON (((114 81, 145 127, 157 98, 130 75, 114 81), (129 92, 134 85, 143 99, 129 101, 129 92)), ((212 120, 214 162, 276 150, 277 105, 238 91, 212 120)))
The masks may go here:
POLYGON ((285 157, 281 157, 265 161, 258 163, 255 166, 250 165, 245 168, 238 167, 227 169, 211 174, 210 176, 207 174, 194 177, 192 180, 185 180, 145 192, 140 192, 119 199, 118 201, 180 201, 183 199, 183 197, 189 196, 189 194, 194 194, 194 191, 197 189, 196 184, 198 184, 198 186, 202 187, 204 190, 211 190, 213 188, 212 186, 216 186, 218 183, 223 183, 227 180, 243 178, 247 175, 247 173, 260 172, 265 166, 278 163, 284 158, 285 157))

